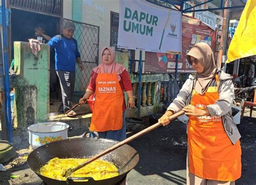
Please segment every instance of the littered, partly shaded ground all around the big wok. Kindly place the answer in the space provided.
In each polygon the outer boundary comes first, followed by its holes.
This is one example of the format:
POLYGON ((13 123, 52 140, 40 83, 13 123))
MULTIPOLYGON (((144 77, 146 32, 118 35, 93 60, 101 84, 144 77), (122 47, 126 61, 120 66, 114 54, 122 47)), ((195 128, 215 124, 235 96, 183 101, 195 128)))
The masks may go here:
MULTIPOLYGON (((242 176, 236 184, 256 184, 256 117, 244 117, 238 125, 242 135, 242 176)), ((247 112, 248 113, 248 112, 247 112)), ((146 122, 146 126, 148 122, 146 122)), ((145 128, 145 127, 141 127, 145 128)), ((139 128, 138 128, 139 129, 139 128)), ((138 131, 138 130, 137 130, 138 131)), ((81 131, 80 131, 81 132, 81 131)), ((71 135, 79 135, 76 131, 71 135)), ((133 133, 129 133, 130 136, 133 133)), ((135 148, 140 160, 127 175, 127 183, 136 184, 185 184, 186 183, 186 125, 178 120, 160 127, 129 144, 135 148)), ((0 172, 0 184, 42 184, 26 163, 28 150, 20 150, 18 156, 4 164, 8 170, 0 172)))

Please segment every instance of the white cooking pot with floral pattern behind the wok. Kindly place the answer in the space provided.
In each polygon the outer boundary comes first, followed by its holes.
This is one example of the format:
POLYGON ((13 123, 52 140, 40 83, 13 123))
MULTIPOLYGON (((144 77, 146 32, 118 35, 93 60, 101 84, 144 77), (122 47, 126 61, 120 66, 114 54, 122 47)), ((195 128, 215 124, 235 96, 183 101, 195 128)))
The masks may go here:
POLYGON ((30 146, 35 149, 49 142, 67 139, 68 129, 69 125, 64 122, 45 122, 30 125, 28 127, 30 146))

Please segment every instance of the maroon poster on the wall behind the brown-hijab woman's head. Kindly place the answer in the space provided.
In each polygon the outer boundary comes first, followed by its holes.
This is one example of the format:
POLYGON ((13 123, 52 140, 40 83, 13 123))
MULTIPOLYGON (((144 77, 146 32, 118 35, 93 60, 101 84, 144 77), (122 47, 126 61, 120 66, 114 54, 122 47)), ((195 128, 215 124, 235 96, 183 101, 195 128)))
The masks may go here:
MULTIPOLYGON (((215 31, 194 17, 182 17, 182 53, 178 54, 178 72, 196 72, 186 60, 186 53, 199 42, 209 44, 215 51, 215 31)), ((145 72, 173 73, 176 68, 176 54, 145 52, 145 72)))

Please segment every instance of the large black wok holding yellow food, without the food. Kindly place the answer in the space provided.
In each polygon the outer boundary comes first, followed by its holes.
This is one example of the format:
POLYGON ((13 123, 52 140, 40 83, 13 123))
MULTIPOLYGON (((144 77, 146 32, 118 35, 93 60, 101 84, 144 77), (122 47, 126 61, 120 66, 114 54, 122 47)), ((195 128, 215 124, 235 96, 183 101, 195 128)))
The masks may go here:
POLYGON ((51 142, 37 149, 33 150, 28 156, 28 165, 46 184, 58 185, 58 184, 116 184, 121 181, 127 173, 134 168, 139 161, 139 154, 137 151, 129 145, 123 145, 122 147, 113 150, 113 152, 106 154, 102 159, 111 161, 117 166, 119 175, 110 179, 95 181, 92 178, 76 178, 69 177, 67 181, 58 181, 50 179, 39 174, 39 169, 44 166, 49 160, 54 157, 59 158, 90 158, 103 150, 110 148, 118 141, 109 139, 97 139, 97 138, 74 138, 66 139, 56 142, 51 142), (78 182, 74 180, 85 180, 85 182, 78 182))

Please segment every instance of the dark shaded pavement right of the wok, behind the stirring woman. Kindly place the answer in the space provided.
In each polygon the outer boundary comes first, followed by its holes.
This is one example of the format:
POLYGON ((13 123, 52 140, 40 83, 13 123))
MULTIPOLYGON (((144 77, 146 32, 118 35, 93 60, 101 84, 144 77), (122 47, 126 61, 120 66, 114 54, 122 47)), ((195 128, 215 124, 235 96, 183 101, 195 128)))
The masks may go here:
MULTIPOLYGON (((129 184, 185 184, 186 125, 175 121, 167 128, 146 134, 130 145, 138 150, 140 161, 128 176, 129 184)), ((236 184, 256 184, 256 117, 244 117, 242 135, 242 177, 236 184)))

